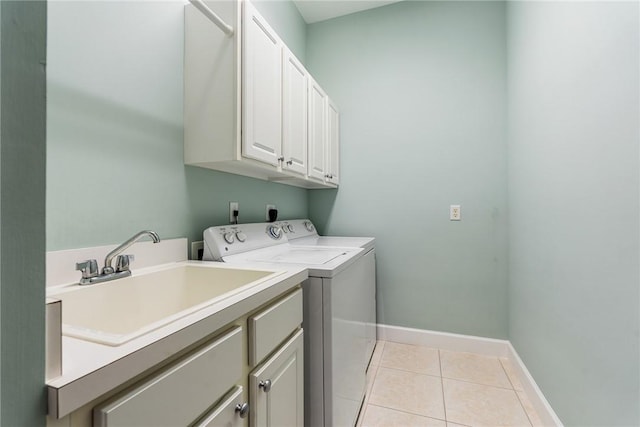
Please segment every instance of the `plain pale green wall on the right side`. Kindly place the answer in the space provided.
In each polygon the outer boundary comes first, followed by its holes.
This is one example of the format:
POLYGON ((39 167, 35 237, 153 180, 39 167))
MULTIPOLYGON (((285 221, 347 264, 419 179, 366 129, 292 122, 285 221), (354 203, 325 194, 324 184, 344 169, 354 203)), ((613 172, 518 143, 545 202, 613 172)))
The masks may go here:
POLYGON ((513 2, 509 337, 568 426, 640 424, 637 2, 513 2))

